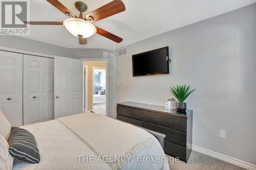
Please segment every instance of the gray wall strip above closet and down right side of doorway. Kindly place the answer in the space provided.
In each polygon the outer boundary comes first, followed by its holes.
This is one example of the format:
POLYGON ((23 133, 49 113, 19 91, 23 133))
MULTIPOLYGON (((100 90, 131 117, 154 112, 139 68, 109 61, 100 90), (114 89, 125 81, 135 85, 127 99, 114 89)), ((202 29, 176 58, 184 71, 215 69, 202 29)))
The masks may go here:
MULTIPOLYGON (((13 48, 21 51, 28 51, 53 56, 70 58, 105 58, 108 59, 109 72, 109 116, 116 116, 116 57, 115 51, 100 48, 65 48, 44 42, 39 42, 18 36, 0 36, 0 50, 3 47, 13 48)), ((15 51, 16 52, 16 51, 15 51)))

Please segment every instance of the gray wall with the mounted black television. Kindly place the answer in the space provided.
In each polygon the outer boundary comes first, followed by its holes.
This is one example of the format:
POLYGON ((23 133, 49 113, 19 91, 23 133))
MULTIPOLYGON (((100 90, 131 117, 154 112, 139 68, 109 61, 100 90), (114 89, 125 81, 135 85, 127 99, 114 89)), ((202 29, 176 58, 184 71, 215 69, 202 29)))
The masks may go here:
POLYGON ((117 57, 117 102, 164 105, 173 97, 169 86, 190 84, 197 89, 186 100, 194 110, 193 144, 256 164, 255 44, 253 4, 128 45, 128 55, 117 57), (132 76, 133 54, 164 46, 170 75, 132 76))

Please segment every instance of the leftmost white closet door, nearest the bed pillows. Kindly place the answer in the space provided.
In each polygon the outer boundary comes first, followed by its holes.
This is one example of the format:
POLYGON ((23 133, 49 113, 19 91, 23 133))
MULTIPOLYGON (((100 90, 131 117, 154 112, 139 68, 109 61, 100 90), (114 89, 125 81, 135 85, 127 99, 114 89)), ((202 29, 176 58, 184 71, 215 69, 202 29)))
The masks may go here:
POLYGON ((0 51, 0 109, 12 126, 23 125, 23 55, 0 51))

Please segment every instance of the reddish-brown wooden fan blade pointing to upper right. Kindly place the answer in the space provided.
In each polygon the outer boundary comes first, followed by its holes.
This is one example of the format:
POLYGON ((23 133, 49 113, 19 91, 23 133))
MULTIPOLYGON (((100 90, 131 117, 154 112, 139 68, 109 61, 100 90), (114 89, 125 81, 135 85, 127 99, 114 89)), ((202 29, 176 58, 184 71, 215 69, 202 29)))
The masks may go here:
POLYGON ((120 0, 114 0, 111 3, 106 4, 87 14, 86 19, 88 19, 90 22, 95 22, 123 11, 125 11, 123 2, 120 0))

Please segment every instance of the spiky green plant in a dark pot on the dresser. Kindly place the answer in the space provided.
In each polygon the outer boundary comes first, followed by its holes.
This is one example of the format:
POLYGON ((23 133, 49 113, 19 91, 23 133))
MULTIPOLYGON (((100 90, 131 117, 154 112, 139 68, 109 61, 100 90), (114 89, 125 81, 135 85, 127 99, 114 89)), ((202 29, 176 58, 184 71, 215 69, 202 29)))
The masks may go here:
MULTIPOLYGON (((196 90, 196 89, 194 89, 196 90)), ((177 98, 179 102, 176 103, 176 109, 179 112, 185 112, 187 109, 187 104, 184 102, 191 92, 194 90, 190 90, 190 85, 176 85, 176 87, 170 87, 170 92, 177 98)))

